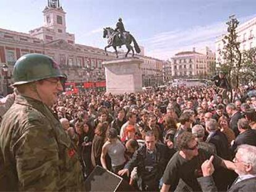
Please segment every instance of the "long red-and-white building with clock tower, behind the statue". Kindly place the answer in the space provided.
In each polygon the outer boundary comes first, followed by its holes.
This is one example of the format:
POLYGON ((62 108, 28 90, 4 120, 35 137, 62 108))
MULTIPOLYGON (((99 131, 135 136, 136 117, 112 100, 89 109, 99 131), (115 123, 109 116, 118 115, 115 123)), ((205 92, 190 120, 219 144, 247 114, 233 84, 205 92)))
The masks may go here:
MULTIPOLYGON (((0 28, 0 67, 8 67, 9 84, 12 83, 12 68, 19 57, 28 53, 41 53, 53 57, 60 64, 71 82, 95 82, 105 80, 103 61, 116 59, 116 54, 100 48, 75 43, 75 35, 66 31, 66 12, 59 0, 48 0, 43 10, 43 27, 20 33, 0 28)), ((144 86, 161 84, 163 61, 144 56, 144 48, 136 57, 143 59, 144 86)), ((1 75, 3 76, 3 75, 1 75)), ((4 78, 0 78, 0 95, 4 90, 4 78)))

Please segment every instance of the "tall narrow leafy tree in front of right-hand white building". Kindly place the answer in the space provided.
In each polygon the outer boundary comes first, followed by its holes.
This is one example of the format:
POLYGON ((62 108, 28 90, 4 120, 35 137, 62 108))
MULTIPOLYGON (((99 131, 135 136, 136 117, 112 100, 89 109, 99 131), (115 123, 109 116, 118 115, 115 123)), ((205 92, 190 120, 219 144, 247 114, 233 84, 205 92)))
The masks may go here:
POLYGON ((227 74, 231 86, 238 88, 240 84, 239 77, 242 75, 242 53, 239 50, 240 43, 237 41, 236 32, 239 21, 232 15, 229 17, 226 24, 228 25, 228 34, 225 35, 222 40, 224 46, 223 49, 220 50, 222 57, 220 70, 227 74))

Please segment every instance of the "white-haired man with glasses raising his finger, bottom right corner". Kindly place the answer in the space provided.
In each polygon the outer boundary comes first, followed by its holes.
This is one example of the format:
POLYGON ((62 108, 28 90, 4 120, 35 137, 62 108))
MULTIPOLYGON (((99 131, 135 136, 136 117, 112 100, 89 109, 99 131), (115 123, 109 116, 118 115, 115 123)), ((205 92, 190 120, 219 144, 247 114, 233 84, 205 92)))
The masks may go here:
MULTIPOLYGON (((203 177, 197 179, 203 192, 217 191, 213 177, 211 177, 214 172, 212 161, 213 157, 203 162, 201 166, 203 177)), ((240 145, 233 161, 236 167, 234 171, 239 177, 228 191, 256 191, 256 147, 248 144, 240 145)))

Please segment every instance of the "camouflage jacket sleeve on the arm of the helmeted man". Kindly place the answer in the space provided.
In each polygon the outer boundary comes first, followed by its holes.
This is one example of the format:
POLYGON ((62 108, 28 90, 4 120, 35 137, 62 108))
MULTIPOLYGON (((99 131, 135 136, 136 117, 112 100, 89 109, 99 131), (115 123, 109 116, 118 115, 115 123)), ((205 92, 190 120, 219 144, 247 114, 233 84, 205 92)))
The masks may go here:
POLYGON ((12 151, 21 191, 58 191, 58 144, 49 125, 28 123, 12 151))

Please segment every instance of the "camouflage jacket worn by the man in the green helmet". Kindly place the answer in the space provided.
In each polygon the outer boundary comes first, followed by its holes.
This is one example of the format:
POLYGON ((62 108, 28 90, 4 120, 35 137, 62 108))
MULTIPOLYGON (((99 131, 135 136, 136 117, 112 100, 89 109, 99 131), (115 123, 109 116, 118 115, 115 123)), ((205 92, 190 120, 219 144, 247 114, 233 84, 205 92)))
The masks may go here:
POLYGON ((53 112, 17 96, 0 128, 0 191, 82 191, 77 152, 53 112))

